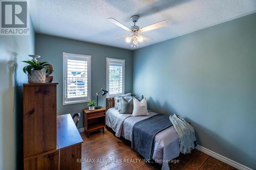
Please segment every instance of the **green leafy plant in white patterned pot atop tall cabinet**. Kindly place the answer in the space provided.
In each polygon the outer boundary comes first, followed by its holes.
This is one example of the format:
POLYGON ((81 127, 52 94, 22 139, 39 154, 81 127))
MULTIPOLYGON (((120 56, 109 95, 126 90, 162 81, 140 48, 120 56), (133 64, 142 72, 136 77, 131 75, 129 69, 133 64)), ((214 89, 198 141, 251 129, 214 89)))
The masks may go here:
POLYGON ((23 68, 25 74, 28 75, 29 83, 45 83, 46 82, 46 66, 48 62, 23 61, 29 65, 23 68))

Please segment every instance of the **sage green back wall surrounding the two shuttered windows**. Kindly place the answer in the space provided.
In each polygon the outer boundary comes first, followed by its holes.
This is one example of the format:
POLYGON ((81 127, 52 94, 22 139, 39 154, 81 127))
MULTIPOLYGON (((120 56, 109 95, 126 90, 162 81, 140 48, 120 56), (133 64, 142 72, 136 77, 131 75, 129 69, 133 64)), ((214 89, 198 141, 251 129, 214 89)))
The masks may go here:
MULTIPOLYGON (((35 36, 35 53, 41 56, 41 61, 53 64, 54 81, 57 81, 57 114, 82 112, 88 108, 87 103, 62 105, 63 74, 62 52, 91 55, 91 93, 95 94, 101 87, 106 87, 106 57, 125 59, 125 93, 132 92, 133 52, 121 48, 60 38, 44 34, 35 36)), ((99 96, 99 106, 105 106, 105 95, 99 96)), ((78 124, 82 128, 82 119, 78 124)))

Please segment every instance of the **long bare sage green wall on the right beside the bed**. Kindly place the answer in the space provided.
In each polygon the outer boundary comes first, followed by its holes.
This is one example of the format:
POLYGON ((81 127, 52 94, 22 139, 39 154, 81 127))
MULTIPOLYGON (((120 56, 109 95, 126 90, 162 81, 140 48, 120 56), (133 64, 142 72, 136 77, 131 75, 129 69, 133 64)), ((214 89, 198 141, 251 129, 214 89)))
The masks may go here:
POLYGON ((256 169, 256 13, 134 52, 133 92, 198 144, 256 169))

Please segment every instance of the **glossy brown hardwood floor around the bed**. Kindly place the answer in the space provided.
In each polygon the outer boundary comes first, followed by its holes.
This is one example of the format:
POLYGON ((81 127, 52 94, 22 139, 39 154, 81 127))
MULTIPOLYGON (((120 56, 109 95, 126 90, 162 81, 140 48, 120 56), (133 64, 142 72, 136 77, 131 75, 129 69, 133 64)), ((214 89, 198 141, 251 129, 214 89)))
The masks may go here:
MULTIPOLYGON (((91 133, 87 138, 84 133, 80 133, 83 139, 82 143, 82 170, 99 169, 161 169, 157 163, 143 162, 136 151, 131 149, 131 143, 124 139, 119 139, 109 130, 91 133)), ((181 155, 174 161, 179 163, 170 163, 170 169, 236 169, 228 164, 221 162, 198 150, 191 154, 181 155)))

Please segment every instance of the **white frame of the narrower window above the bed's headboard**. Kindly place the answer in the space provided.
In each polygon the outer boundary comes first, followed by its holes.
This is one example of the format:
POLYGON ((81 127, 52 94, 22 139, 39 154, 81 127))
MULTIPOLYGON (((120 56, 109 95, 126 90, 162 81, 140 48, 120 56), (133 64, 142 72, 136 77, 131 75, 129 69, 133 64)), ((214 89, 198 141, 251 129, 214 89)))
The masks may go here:
MULTIPOLYGON (((122 64, 122 93, 120 94, 124 94, 124 85, 125 85, 125 60, 122 59, 115 59, 115 58, 108 58, 106 57, 106 90, 109 90, 109 64, 111 63, 117 63, 117 64, 122 64)), ((114 98, 114 95, 118 95, 118 94, 110 94, 110 92, 108 92, 106 94, 107 98, 114 98)))

